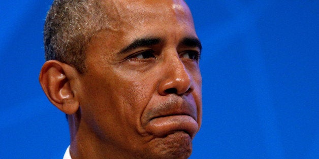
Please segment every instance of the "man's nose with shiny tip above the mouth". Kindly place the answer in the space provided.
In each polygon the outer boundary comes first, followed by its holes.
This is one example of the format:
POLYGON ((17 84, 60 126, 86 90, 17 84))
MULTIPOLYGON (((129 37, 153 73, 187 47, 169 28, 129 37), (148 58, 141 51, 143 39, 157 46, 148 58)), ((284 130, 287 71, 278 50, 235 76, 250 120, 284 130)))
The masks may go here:
POLYGON ((179 56, 166 60, 163 68, 165 69, 165 73, 158 86, 159 94, 163 96, 168 94, 183 96, 193 92, 192 77, 189 75, 179 56))

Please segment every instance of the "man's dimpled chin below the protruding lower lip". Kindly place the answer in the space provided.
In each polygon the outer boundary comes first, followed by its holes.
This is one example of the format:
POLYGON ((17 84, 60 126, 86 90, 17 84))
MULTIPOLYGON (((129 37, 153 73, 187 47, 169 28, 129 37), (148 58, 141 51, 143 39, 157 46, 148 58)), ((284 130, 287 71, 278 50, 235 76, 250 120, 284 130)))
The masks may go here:
POLYGON ((192 154, 192 139, 187 133, 175 132, 155 138, 146 158, 188 158, 192 154))

